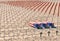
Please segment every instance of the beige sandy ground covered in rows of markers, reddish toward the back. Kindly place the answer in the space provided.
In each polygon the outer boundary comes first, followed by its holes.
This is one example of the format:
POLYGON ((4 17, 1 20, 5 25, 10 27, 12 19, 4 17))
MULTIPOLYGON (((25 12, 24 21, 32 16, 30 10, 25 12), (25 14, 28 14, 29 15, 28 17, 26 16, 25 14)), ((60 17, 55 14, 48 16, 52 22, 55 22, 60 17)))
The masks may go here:
POLYGON ((59 2, 1 2, 0 41, 59 41, 60 39, 59 2), (53 22, 56 29, 35 29, 30 21, 53 22), (58 35, 56 35, 56 31, 58 35), (50 31, 50 36, 48 36, 50 31), (40 36, 42 32, 42 36, 40 36))

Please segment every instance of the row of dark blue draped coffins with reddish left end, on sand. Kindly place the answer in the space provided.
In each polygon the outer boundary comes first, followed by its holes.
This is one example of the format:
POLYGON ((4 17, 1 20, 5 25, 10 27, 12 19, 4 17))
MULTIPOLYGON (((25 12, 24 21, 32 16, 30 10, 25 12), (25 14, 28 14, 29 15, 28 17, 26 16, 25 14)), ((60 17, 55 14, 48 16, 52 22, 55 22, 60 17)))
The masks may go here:
POLYGON ((33 23, 32 24, 34 28, 37 28, 37 29, 49 29, 49 28, 56 28, 54 23, 52 22, 47 22, 47 23, 33 23))

